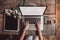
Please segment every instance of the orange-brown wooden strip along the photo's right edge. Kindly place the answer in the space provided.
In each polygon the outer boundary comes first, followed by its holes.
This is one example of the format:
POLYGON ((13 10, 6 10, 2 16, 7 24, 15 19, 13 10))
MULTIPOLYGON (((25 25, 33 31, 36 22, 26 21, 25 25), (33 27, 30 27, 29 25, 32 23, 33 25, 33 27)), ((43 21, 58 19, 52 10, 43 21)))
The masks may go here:
POLYGON ((57 40, 60 40, 60 0, 56 0, 57 40))

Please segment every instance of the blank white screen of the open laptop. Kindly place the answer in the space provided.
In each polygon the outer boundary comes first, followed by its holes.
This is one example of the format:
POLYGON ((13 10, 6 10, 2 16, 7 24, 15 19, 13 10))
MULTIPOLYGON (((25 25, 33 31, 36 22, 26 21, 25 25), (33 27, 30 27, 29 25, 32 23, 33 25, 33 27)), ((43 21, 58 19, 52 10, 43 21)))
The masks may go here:
POLYGON ((46 7, 20 7, 22 15, 43 15, 46 7))

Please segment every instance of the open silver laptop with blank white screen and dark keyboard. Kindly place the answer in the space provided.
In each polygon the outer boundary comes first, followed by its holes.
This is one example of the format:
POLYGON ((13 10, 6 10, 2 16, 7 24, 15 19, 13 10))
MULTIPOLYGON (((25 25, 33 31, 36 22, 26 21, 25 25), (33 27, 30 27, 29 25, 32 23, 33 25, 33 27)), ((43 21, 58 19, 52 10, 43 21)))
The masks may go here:
POLYGON ((20 7, 21 13, 22 13, 22 20, 29 21, 30 26, 28 30, 36 30, 35 28, 35 22, 36 20, 40 20, 40 28, 43 30, 43 13, 45 11, 46 7, 20 7))

